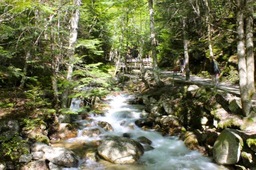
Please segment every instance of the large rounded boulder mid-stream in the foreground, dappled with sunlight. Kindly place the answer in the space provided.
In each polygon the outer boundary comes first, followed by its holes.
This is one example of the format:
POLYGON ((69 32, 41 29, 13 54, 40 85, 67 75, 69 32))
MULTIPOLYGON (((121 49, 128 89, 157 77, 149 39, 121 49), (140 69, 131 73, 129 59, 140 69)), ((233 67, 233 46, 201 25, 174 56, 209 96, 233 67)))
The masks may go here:
POLYGON ((98 153, 105 160, 130 164, 138 161, 144 154, 143 146, 130 138, 111 136, 104 139, 98 147, 98 153))

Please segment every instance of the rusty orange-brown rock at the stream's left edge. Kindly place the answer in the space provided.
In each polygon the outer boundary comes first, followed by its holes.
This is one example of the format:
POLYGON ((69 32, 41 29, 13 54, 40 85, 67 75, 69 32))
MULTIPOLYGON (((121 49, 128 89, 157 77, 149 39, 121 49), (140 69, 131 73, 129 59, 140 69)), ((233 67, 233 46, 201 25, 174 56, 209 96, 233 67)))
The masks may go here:
POLYGON ((70 139, 77 137, 77 130, 68 123, 60 123, 59 128, 57 130, 57 135, 59 135, 60 139, 70 139))

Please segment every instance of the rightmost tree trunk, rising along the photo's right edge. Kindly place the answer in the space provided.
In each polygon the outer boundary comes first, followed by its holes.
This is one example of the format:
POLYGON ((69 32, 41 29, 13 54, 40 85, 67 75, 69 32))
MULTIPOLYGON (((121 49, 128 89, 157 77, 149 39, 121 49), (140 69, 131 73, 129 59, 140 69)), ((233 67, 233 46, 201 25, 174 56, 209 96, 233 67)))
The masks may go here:
POLYGON ((246 69, 249 96, 256 99, 254 85, 254 56, 253 56, 253 0, 246 1, 246 69))

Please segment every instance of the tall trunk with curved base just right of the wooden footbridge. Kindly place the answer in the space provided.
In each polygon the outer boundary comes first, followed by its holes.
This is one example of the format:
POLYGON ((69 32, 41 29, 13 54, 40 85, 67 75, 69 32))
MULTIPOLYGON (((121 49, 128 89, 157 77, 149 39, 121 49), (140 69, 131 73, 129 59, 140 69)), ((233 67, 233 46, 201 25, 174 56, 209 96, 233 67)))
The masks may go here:
POLYGON ((162 87, 164 82, 161 80, 157 67, 157 56, 156 56, 156 38, 154 30, 154 10, 153 10, 153 0, 148 0, 149 5, 149 15, 150 15, 150 38, 151 38, 151 50, 153 58, 153 72, 154 78, 157 86, 162 87))

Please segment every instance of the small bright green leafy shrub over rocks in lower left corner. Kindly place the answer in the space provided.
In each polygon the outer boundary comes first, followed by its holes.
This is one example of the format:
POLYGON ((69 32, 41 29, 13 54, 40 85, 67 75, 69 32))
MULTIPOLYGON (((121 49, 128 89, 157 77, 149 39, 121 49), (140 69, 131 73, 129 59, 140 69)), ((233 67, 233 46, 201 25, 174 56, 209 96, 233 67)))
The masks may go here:
POLYGON ((18 159, 19 155, 28 153, 27 149, 24 147, 24 144, 27 142, 27 140, 20 140, 18 134, 15 134, 13 138, 6 138, 5 136, 1 136, 0 141, 0 153, 2 159, 5 156, 9 156, 12 160, 16 160, 18 159))

